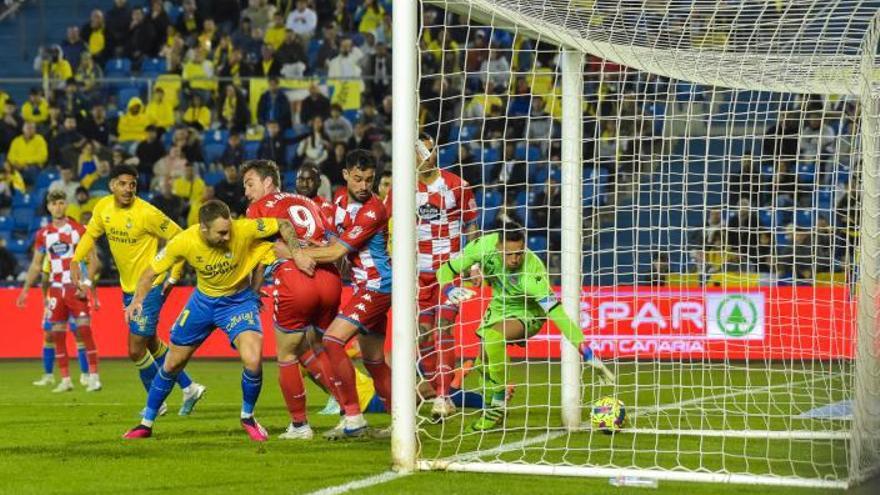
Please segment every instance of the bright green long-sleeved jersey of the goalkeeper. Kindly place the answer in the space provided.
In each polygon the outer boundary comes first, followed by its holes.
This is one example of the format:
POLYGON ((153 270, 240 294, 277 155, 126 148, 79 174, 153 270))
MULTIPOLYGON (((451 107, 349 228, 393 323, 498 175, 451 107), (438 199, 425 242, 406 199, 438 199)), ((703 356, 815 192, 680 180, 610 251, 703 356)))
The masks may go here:
POLYGON ((546 315, 566 339, 575 345, 580 344, 583 333, 559 304, 541 259, 526 248, 522 266, 515 271, 508 270, 498 250, 499 239, 500 234, 488 234, 467 243, 460 255, 444 263, 437 271, 440 287, 445 287, 458 274, 479 264, 484 280, 492 287, 490 309, 497 308, 502 315, 511 317, 546 315))

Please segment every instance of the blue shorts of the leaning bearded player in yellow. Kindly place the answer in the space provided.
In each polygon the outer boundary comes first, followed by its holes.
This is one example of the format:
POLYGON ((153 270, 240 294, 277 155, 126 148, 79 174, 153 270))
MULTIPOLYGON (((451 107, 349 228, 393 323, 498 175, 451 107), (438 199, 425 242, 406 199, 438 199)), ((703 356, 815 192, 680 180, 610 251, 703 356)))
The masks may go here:
POLYGON ((259 296, 250 288, 220 297, 207 296, 196 289, 171 328, 171 343, 199 345, 219 328, 234 348, 240 333, 263 332, 259 302, 259 296))

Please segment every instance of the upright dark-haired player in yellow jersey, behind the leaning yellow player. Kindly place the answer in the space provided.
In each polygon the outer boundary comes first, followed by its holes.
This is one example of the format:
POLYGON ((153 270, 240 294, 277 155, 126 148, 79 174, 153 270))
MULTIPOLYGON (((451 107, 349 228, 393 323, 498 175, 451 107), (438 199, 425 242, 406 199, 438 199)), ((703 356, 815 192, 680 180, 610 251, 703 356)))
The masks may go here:
MULTIPOLYGON (((181 232, 180 226, 150 203, 137 197, 137 169, 130 165, 113 167, 110 172, 112 195, 95 205, 86 233, 73 254, 70 275, 73 282, 85 289, 95 280, 97 266, 89 266, 89 276, 83 278, 80 262, 85 260, 95 241, 103 236, 110 244, 110 253, 119 269, 122 302, 128 305, 134 295, 138 277, 149 266, 159 251, 159 241, 167 241, 181 232)), ((165 302, 167 290, 179 277, 183 264, 175 267, 169 278, 157 277, 152 281, 149 294, 138 318, 128 322, 128 357, 138 367, 141 383, 149 391, 153 377, 162 367, 168 347, 156 336, 159 311, 165 302)), ((192 412, 196 402, 205 393, 205 387, 195 383, 186 373, 180 373, 177 383, 183 389, 183 404, 179 414, 192 412)), ((160 414, 165 413, 162 404, 160 414)))

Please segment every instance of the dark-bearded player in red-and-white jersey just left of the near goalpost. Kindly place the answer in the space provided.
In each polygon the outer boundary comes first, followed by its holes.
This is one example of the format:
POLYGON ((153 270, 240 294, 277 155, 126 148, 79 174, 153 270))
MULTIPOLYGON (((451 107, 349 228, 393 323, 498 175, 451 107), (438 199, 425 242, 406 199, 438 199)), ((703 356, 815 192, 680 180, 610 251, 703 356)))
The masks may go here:
MULTIPOLYGON (((351 298, 323 338, 344 412, 336 428, 324 434, 328 439, 359 437, 369 432, 358 403, 354 365, 345 351, 345 345, 355 335, 358 335, 364 367, 373 379, 376 392, 386 410, 391 406, 391 369, 385 363, 384 350, 387 313, 391 307, 388 216, 385 206, 372 192, 376 163, 368 152, 357 150, 346 155, 342 175, 346 193, 336 198, 334 217, 339 237, 327 246, 303 249, 318 264, 336 263, 347 257, 354 283, 351 298)), ((283 251, 279 255, 288 257, 283 251)))

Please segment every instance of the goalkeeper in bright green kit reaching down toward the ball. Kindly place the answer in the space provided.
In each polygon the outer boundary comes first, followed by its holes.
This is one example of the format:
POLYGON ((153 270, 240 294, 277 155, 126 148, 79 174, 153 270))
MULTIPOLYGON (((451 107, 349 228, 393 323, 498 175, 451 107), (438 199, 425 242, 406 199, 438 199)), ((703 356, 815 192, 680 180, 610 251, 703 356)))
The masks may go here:
POLYGON ((526 248, 522 227, 507 224, 500 233, 487 234, 469 242, 461 254, 440 266, 437 281, 452 304, 476 295, 473 290, 454 284, 458 274, 479 264, 486 282, 492 286, 492 301, 477 330, 482 344, 482 377, 486 409, 468 431, 485 431, 504 419, 507 344, 523 343, 535 335, 549 318, 566 340, 581 351, 584 363, 599 371, 603 383, 613 383, 614 374, 593 356, 584 335, 562 308, 550 288, 547 269, 538 256, 526 248))

